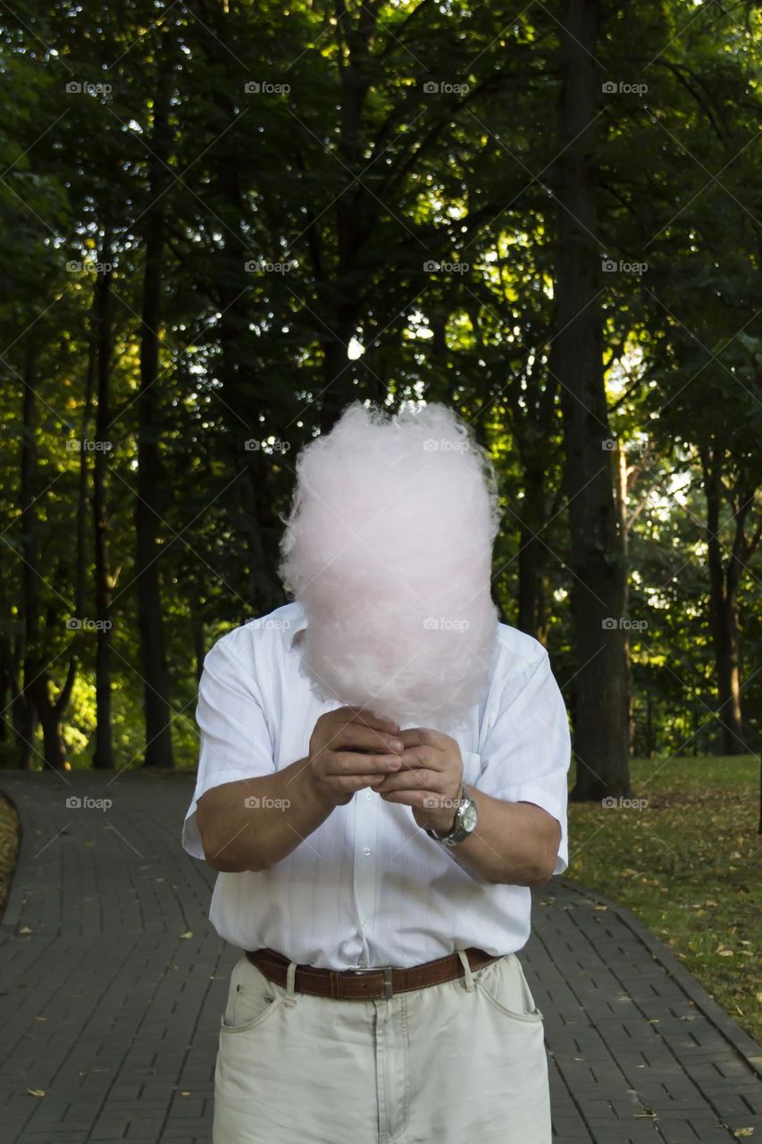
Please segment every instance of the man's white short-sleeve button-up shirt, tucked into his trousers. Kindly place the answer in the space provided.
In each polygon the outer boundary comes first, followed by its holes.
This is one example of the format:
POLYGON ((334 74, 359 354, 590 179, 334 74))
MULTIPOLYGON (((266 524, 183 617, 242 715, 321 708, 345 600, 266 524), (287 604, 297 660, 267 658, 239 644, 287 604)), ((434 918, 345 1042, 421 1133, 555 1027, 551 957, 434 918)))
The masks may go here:
MULTIPOLYGON (((300 673, 296 637, 305 623, 301 604, 286 604, 222 636, 204 660, 198 776, 182 831, 195 858, 204 858, 201 795, 304 758, 317 718, 341 706, 323 702, 300 673)), ((499 625, 484 701, 466 730, 437 730, 458 740, 467 786, 535 803, 557 819, 554 873, 563 873, 570 736, 545 648, 499 625)), ((217 873, 209 919, 240 950, 268 946, 301 964, 350 969, 415 966, 468 946, 515 953, 529 937, 530 909, 529 888, 477 881, 415 824, 410 807, 368 789, 270 869, 217 873)))

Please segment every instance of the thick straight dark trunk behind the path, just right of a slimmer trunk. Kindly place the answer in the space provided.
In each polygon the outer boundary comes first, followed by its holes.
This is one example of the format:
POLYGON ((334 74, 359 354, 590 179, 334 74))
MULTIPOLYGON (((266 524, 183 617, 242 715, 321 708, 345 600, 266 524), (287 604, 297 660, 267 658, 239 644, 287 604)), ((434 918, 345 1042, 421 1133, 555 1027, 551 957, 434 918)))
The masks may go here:
POLYGON ((137 629, 143 669, 145 713, 145 766, 173 766, 169 670, 165 651, 161 583, 159 579, 159 525, 162 517, 161 436, 159 390, 159 326, 161 272, 165 245, 165 210, 172 133, 168 122, 172 69, 159 72, 149 158, 149 202, 145 213, 145 269, 141 324, 141 392, 137 404, 137 498, 135 501, 135 588, 137 629))

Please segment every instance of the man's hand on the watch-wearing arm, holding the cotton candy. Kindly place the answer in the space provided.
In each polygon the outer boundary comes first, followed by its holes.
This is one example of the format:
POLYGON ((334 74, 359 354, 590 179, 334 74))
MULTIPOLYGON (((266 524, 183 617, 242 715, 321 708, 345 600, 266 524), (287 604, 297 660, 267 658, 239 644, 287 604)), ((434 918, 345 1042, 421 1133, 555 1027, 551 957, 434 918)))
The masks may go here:
POLYGON ((423 829, 449 831, 454 820, 463 779, 460 747, 449 734, 416 726, 399 731, 402 766, 375 789, 387 802, 412 807, 423 829))

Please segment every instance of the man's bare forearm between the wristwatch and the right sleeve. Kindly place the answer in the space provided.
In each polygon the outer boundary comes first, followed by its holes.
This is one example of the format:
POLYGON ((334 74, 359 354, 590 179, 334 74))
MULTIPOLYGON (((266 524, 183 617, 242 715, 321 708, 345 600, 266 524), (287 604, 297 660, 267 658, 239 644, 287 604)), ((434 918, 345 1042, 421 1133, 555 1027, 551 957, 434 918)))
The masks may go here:
POLYGON ((457 847, 446 847, 477 881, 510 885, 542 885, 555 868, 561 827, 540 807, 493 799, 469 786, 478 810, 474 833, 457 847))

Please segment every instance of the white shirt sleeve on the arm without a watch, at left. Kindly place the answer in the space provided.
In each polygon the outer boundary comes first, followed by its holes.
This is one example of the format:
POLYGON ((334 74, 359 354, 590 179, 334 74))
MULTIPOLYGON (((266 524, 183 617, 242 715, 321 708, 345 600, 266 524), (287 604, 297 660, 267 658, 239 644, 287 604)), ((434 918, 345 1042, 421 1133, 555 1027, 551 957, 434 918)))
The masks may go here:
POLYGON ((261 778, 276 770, 259 685, 225 636, 204 659, 196 722, 200 732, 198 772, 182 844, 193 858, 204 858, 196 823, 201 795, 223 782, 261 778))

